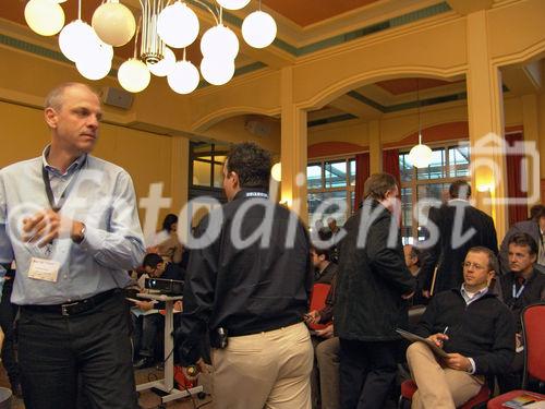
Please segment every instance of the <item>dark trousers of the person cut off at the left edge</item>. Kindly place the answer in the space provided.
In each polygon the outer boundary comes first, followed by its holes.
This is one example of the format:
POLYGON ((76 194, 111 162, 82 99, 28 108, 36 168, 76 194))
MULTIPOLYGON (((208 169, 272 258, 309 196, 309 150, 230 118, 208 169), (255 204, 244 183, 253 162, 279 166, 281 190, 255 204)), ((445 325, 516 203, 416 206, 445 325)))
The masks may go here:
POLYGON ((8 377, 13 387, 21 383, 19 363, 15 356, 15 339, 13 322, 17 315, 17 305, 12 304, 11 291, 13 289, 13 278, 7 279, 2 287, 2 301, 0 302, 0 327, 2 328, 4 339, 2 344, 2 363, 8 372, 8 377))

